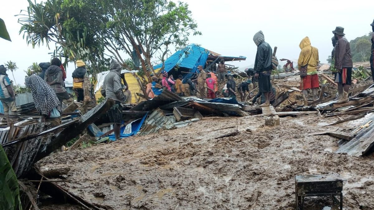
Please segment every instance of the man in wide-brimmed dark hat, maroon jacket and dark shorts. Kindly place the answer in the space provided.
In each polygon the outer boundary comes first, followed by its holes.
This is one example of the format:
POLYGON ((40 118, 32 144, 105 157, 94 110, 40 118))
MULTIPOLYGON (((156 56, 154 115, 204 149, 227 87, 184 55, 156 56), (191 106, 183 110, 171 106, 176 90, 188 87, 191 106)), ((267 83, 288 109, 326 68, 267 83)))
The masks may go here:
POLYGON ((338 26, 332 33, 338 40, 334 51, 335 68, 338 71, 335 79, 335 82, 338 83, 338 103, 343 103, 349 101, 348 90, 353 67, 352 54, 349 41, 344 36, 344 28, 338 26))

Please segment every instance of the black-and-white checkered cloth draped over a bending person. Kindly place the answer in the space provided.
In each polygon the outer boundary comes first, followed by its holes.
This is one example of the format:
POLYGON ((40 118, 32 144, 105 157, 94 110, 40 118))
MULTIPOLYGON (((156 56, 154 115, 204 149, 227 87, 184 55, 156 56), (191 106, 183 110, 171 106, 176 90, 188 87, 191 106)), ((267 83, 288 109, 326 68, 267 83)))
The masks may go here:
POLYGON ((36 109, 43 115, 49 115, 53 108, 61 112, 61 105, 55 91, 41 77, 31 75, 25 78, 26 87, 31 89, 36 109))

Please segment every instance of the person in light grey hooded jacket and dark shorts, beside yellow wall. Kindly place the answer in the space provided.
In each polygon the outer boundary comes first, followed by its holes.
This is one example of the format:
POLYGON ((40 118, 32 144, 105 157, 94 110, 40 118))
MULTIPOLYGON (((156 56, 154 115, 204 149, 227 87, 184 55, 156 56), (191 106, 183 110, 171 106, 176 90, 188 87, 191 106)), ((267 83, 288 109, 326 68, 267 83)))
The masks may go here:
POLYGON ((125 102, 121 83, 122 67, 117 61, 111 60, 109 69, 110 72, 104 78, 101 95, 114 100, 114 104, 107 112, 107 116, 110 122, 114 123, 114 135, 117 140, 120 138, 121 123, 123 120, 121 102, 125 102))

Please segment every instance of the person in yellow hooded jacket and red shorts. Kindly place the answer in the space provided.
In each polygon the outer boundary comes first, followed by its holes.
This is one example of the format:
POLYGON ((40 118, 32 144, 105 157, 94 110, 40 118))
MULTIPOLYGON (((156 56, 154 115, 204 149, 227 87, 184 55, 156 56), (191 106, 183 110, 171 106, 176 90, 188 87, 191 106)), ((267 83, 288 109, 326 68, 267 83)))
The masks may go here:
POLYGON ((318 49, 310 44, 309 37, 301 40, 299 47, 301 49, 297 65, 306 68, 306 75, 300 79, 300 89, 303 90, 304 106, 308 106, 308 89, 312 89, 313 101, 318 98, 318 71, 319 63, 318 49))

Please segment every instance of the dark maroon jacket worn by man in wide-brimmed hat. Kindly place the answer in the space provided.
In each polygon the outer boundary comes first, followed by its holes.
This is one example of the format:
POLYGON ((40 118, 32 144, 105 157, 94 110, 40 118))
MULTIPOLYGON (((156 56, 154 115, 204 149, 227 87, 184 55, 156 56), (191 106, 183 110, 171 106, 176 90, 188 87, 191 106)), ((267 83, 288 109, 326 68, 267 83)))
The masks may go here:
POLYGON ((342 70, 343 68, 352 68, 352 54, 350 52, 349 41, 346 37, 341 37, 335 45, 335 68, 342 70))

